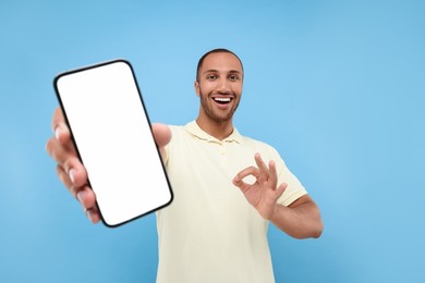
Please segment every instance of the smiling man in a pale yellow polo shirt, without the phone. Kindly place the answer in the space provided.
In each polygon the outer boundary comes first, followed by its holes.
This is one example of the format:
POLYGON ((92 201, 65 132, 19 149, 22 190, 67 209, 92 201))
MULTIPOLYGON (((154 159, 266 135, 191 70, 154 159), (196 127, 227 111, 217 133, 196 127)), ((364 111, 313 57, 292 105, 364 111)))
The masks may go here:
MULTIPOLYGON (((295 238, 321 234, 319 209, 278 152, 234 128, 242 85, 238 56, 211 50, 197 66, 196 121, 153 126, 174 193, 173 202, 157 212, 157 282, 274 282, 268 223, 295 238)), ((96 223, 96 197, 59 109, 53 128, 47 151, 96 223)))

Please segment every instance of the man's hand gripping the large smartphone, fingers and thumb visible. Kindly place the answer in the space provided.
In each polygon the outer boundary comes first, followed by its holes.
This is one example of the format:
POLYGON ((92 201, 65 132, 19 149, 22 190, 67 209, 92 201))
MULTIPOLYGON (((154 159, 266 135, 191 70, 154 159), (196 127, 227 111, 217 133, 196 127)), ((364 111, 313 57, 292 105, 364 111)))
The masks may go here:
MULTIPOLYGON (((95 193, 87 186, 87 172, 76 156, 70 130, 59 107, 53 113, 52 128, 54 136, 47 142, 46 150, 58 163, 57 173, 59 179, 81 202, 90 222, 98 223, 100 213, 96 206, 95 193)), ((163 147, 171 139, 171 131, 163 124, 153 124, 153 133, 162 160, 165 160, 166 151, 163 147)))

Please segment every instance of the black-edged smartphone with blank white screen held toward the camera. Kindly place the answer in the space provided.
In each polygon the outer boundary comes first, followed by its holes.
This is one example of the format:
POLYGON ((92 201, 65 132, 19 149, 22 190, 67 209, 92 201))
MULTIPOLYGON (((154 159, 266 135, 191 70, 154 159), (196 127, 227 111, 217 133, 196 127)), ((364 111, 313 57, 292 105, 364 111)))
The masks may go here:
POLYGON ((130 62, 64 72, 53 86, 102 222, 118 226, 169 205, 172 189, 130 62))

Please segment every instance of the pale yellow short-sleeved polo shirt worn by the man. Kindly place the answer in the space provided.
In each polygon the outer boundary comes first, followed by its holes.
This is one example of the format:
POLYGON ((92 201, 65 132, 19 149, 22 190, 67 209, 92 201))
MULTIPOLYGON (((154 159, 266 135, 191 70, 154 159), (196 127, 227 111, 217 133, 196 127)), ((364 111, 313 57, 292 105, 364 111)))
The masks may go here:
POLYGON ((241 136, 236 130, 218 140, 196 122, 170 128, 166 167, 174 199, 157 212, 157 282, 275 282, 268 221, 232 179, 256 165, 254 155, 259 152, 266 163, 276 162, 278 184, 288 183, 279 204, 288 206, 305 195, 304 187, 272 147, 241 136))

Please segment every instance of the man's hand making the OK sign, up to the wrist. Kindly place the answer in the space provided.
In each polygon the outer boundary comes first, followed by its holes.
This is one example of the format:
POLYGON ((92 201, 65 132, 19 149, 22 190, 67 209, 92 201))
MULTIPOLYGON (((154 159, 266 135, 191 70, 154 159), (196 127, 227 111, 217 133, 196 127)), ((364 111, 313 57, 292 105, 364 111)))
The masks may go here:
POLYGON ((247 201, 264 219, 271 220, 278 209, 277 200, 288 185, 283 183, 277 187, 278 176, 274 161, 270 161, 267 168, 259 153, 256 153, 254 158, 258 168, 248 167, 242 170, 233 179, 233 184, 242 190, 247 201), (256 179, 252 185, 243 181, 248 175, 256 179))

